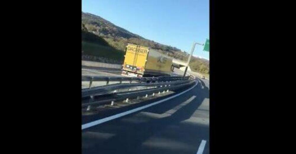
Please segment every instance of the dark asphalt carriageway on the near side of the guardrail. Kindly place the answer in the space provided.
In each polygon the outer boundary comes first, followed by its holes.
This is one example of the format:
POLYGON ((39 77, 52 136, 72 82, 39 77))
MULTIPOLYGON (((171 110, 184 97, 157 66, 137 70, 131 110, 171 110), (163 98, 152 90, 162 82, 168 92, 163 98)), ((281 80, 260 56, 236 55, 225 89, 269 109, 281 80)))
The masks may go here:
POLYGON ((196 154, 205 145, 203 154, 208 154, 208 85, 199 79, 178 97, 83 129, 82 153, 196 154))

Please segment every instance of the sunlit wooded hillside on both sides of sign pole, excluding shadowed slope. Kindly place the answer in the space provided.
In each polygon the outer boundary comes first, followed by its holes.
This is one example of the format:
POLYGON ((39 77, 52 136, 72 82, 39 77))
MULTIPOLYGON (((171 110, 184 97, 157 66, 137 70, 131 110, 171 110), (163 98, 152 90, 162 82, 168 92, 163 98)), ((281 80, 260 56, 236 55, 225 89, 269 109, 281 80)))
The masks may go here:
MULTIPOLYGON (((107 46, 114 47, 115 49, 125 51, 126 45, 128 43, 131 44, 138 44, 145 47, 150 47, 154 49, 158 49, 159 52, 162 52, 163 54, 167 54, 170 57, 187 61, 188 54, 186 52, 181 51, 180 49, 176 47, 172 47, 170 45, 164 45, 157 42, 154 42, 149 39, 145 39, 144 37, 139 36, 138 34, 134 34, 132 32, 129 32, 126 29, 123 29, 121 27, 116 26, 115 24, 112 24, 110 21, 103 19, 100 16, 90 14, 90 13, 81 13, 81 21, 82 21, 82 29, 84 31, 82 32, 88 32, 87 36, 93 37, 91 40, 97 40, 99 44, 105 44, 107 42, 107 46), (94 38, 91 34, 94 34, 97 36, 97 38, 94 38), (104 39, 104 41, 102 41, 104 39)), ((86 35, 84 35, 86 36, 86 35)), ((89 42, 89 38, 84 37, 83 41, 89 42)), ((190 67, 193 68, 193 71, 200 71, 200 66, 196 67, 192 64, 203 64, 203 66, 207 67, 207 69, 203 68, 202 73, 208 73, 208 61, 205 61, 201 58, 192 57, 190 61, 190 67)))

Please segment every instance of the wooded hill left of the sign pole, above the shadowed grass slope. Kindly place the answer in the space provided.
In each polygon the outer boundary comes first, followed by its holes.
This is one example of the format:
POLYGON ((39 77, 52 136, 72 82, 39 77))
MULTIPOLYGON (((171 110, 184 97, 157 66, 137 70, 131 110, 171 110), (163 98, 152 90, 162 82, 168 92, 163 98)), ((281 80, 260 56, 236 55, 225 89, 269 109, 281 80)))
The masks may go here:
POLYGON ((82 12, 81 21, 90 32, 104 38, 111 46, 117 49, 125 50, 127 43, 133 43, 145 47, 160 49, 165 51, 165 53, 168 53, 169 56, 186 60, 186 54, 181 52, 180 49, 145 39, 112 24, 110 21, 103 19, 100 16, 82 12), (176 52, 178 52, 178 54, 176 54, 176 52))

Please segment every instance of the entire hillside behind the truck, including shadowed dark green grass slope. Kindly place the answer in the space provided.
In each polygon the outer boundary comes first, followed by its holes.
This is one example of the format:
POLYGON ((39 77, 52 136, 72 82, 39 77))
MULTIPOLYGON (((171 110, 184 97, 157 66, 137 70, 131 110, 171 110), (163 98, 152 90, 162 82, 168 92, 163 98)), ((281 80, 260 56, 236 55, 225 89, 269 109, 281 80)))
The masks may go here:
MULTIPOLYGON (((100 16, 82 12, 81 20, 82 44, 85 54, 123 61, 126 45, 127 43, 131 43, 160 49, 164 54, 182 61, 187 61, 188 59, 188 55, 176 47, 145 39, 112 24, 110 21, 107 21, 100 16), (104 46, 106 46, 106 48, 104 46)), ((190 68, 192 71, 208 74, 209 61, 192 57, 190 68)))

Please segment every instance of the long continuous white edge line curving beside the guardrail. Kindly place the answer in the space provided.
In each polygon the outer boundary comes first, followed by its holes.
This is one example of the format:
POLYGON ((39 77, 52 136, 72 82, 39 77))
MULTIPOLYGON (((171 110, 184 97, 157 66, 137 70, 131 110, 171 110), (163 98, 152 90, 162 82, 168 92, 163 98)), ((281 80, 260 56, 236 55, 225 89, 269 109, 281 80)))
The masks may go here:
POLYGON ((103 118, 103 119, 99 119, 99 120, 96 120, 96 121, 93 121, 93 122, 89 122, 89 123, 83 124, 83 125, 81 125, 81 130, 86 129, 86 128, 89 128, 89 127, 94 126, 94 125, 99 125, 99 124, 101 124, 101 123, 103 123, 103 122, 107 122, 107 121, 110 121, 110 120, 113 120, 113 119, 116 119, 116 118, 119 118, 119 117, 122 117, 122 116, 125 116, 125 115, 128 115, 128 114, 131 114, 131 113, 133 113, 133 112, 137 112, 137 111, 142 110, 142 109, 145 109, 145 108, 147 108, 147 107, 150 107, 150 106, 153 106, 153 105, 159 104, 159 103, 161 103, 161 102, 164 102, 164 101, 170 100, 170 99, 172 99, 172 98, 175 98, 175 97, 177 97, 177 96, 179 96, 179 95, 184 94, 185 92, 188 92, 189 90, 192 90, 192 89, 197 85, 197 83, 198 83, 198 82, 196 82, 196 84, 195 84, 193 87, 191 87, 191 88, 185 90, 184 92, 180 92, 180 93, 178 93, 178 94, 176 94, 176 95, 173 95, 173 96, 171 96, 171 97, 165 98, 165 99, 163 99, 163 100, 159 100, 159 101, 157 101, 157 102, 154 102, 154 103, 151 103, 151 104, 148 104, 148 105, 144 105, 144 106, 142 106, 142 107, 138 107, 138 108, 135 108, 135 109, 133 109, 133 110, 129 110, 129 111, 126 111, 126 112, 119 113, 119 114, 117 114, 117 115, 112 115, 112 116, 110 116, 110 117, 105 117, 105 118, 103 118))

